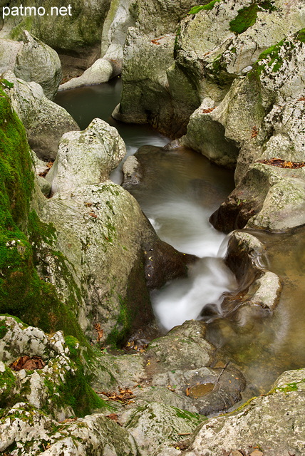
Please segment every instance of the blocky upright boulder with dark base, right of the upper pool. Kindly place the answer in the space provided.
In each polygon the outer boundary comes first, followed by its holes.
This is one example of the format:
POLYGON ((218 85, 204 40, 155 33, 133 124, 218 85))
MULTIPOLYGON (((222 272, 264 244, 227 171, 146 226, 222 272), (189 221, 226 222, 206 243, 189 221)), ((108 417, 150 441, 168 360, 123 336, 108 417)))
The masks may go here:
POLYGON ((137 28, 128 29, 123 92, 120 105, 113 112, 115 119, 150 123, 167 136, 185 133, 188 118, 200 101, 187 78, 176 74, 174 43, 175 35, 151 39, 137 28), (170 81, 176 81, 179 88, 172 89, 170 81))

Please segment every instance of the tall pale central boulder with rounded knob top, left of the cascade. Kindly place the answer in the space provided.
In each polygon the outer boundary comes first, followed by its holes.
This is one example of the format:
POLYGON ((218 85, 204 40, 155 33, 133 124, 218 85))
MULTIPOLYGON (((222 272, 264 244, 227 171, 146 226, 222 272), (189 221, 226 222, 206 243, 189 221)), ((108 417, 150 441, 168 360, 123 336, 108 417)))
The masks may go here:
POLYGON ((95 343, 119 343, 153 319, 147 285, 150 249, 163 257, 156 272, 167 262, 159 286, 175 273, 187 273, 184 255, 170 246, 164 249, 167 244, 157 238, 138 202, 108 180, 124 155, 123 140, 103 120, 93 120, 81 133, 66 133, 47 175, 53 197, 38 202, 41 219, 56 229, 53 250, 67 259, 66 266, 60 266, 60 257, 40 246, 44 274, 68 300, 63 269, 68 268, 78 284, 78 321, 95 343))

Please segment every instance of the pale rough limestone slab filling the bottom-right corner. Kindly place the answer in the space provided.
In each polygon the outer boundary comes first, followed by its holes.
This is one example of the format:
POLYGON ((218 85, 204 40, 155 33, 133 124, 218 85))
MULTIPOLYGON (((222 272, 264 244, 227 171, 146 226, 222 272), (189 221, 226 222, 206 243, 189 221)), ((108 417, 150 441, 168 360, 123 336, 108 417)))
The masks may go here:
MULTIPOLYGON (((250 400, 230 415, 205 422, 183 454, 202 455, 202 449, 205 456, 222 456, 224 451, 237 449, 248 454, 258 446, 268 456, 303 455, 304 385, 304 369, 283 373, 269 394, 250 400)), ((170 456, 172 450, 163 448, 155 455, 170 456)))

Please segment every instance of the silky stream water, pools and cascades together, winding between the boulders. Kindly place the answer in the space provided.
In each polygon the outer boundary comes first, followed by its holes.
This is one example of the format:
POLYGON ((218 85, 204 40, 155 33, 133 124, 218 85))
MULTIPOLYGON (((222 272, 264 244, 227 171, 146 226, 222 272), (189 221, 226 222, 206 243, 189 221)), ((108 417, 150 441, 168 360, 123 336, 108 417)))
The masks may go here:
MULTIPOLYGON (((208 338, 237 362, 247 377, 248 395, 266 393, 281 372, 305 366, 305 229, 292 234, 254 232, 267 246, 266 266, 281 278, 281 301, 273 314, 258 314, 247 326, 226 315, 222 294, 232 291, 236 283, 222 260, 227 239, 208 219, 233 189, 232 172, 191 150, 162 150, 168 139, 148 125, 124 124, 111 118, 120 91, 117 78, 100 86, 58 93, 56 103, 66 108, 82 129, 95 117, 115 126, 128 155, 145 144, 157 146, 140 151, 144 179, 133 195, 161 239, 200 257, 190 267, 187 279, 172 281, 152 294, 160 326, 168 330, 198 318, 205 306, 214 304, 216 314, 207 320, 208 338)), ((111 175, 118 184, 120 169, 111 175)))

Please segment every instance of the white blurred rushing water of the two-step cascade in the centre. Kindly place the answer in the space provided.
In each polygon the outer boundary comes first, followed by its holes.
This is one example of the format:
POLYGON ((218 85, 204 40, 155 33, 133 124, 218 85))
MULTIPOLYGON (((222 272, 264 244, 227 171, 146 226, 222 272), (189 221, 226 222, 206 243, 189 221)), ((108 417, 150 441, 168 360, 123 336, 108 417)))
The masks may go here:
POLYGON ((209 216, 210 211, 186 200, 150 207, 150 221, 159 237, 180 252, 200 257, 190 266, 186 279, 171 281, 152 294, 155 316, 167 331, 200 317, 209 304, 222 314, 222 294, 237 286, 222 259, 227 238, 212 227, 209 216))

